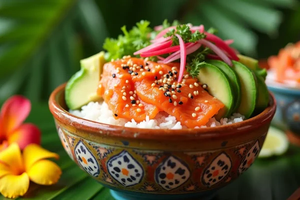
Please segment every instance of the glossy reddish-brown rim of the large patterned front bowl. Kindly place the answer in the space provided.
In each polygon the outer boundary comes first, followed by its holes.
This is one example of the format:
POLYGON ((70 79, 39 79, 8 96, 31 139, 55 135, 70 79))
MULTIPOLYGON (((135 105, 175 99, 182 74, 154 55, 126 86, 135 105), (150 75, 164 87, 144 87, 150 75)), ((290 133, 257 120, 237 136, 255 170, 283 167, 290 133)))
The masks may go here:
MULTIPOLYGON (((246 134, 250 130, 262 126, 270 122, 276 110, 276 100, 271 92, 269 92, 269 105, 259 114, 238 123, 229 125, 221 125, 206 128, 185 128, 185 129, 148 129, 148 128, 132 128, 118 125, 110 125, 91 121, 75 116, 65 110, 57 101, 57 97, 64 91, 66 83, 56 87, 49 97, 49 109, 53 117, 62 121, 64 124, 71 124, 77 129, 88 131, 96 135, 109 135, 115 137, 131 138, 131 139, 154 139, 154 140, 189 140, 189 139, 213 139, 234 137, 237 134, 246 134)), ((236 138, 236 137, 235 137, 236 138)))

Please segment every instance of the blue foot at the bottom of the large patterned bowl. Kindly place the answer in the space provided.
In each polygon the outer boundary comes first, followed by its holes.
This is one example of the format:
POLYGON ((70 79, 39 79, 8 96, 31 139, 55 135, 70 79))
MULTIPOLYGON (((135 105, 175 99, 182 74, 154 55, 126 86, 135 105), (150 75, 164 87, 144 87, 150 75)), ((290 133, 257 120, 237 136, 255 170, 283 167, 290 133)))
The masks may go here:
POLYGON ((185 199, 195 199, 195 200, 210 200, 215 194, 216 190, 208 190, 189 194, 149 194, 140 192, 130 192, 130 191, 115 191, 110 189, 110 193, 116 200, 185 200, 185 199))

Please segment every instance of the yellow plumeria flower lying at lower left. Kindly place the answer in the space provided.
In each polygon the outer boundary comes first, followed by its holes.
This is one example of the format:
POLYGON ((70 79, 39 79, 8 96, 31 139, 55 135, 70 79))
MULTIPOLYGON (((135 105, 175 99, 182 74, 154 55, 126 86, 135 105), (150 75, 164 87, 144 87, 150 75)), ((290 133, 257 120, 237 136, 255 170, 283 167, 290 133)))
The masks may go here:
POLYGON ((0 152, 0 192, 8 198, 24 195, 29 181, 50 185, 58 181, 61 169, 46 158, 59 158, 37 144, 29 144, 21 154, 17 143, 0 152))

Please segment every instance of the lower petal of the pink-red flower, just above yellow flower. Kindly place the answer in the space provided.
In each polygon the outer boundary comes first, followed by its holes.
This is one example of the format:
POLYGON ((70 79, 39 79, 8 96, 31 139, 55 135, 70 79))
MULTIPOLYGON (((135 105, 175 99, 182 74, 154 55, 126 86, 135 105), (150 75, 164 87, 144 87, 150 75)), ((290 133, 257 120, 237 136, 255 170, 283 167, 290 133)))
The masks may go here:
POLYGON ((7 136, 8 143, 16 142, 20 149, 30 143, 40 144, 40 131, 31 124, 24 123, 7 136))

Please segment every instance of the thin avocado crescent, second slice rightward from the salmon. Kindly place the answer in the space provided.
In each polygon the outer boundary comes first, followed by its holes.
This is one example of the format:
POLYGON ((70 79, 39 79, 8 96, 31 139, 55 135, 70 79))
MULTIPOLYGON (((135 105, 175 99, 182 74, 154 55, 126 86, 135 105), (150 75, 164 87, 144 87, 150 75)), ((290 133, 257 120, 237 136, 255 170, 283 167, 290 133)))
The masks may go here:
POLYGON ((223 61, 220 60, 215 60, 215 59, 210 59, 210 60, 205 60, 205 62, 212 64, 219 69, 221 69, 229 78, 229 83, 231 84, 233 88, 233 97, 234 97, 234 107, 232 109, 232 112, 234 112, 240 104, 240 81, 239 78, 236 74, 236 72, 230 67, 228 64, 226 64, 223 61))

